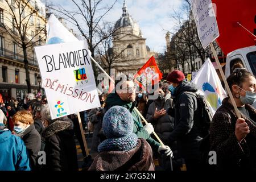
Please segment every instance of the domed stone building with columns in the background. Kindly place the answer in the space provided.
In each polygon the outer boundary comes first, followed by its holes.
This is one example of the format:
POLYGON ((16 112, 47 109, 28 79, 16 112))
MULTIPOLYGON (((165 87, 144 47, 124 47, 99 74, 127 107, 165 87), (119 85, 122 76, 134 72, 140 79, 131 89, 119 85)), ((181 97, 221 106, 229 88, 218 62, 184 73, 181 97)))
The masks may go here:
POLYGON ((155 56, 155 52, 146 46, 146 39, 136 20, 129 15, 125 1, 122 11, 114 27, 113 52, 119 56, 113 68, 116 73, 137 73, 151 56, 155 56))

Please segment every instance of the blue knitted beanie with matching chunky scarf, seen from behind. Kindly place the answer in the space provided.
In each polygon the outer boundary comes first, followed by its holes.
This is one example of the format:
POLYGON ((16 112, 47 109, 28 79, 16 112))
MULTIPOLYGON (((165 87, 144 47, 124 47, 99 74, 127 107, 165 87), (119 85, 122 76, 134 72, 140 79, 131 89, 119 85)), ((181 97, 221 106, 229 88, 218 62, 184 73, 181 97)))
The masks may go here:
POLYGON ((125 107, 113 106, 104 115, 103 133, 108 138, 98 151, 129 151, 137 146, 137 135, 133 133, 133 116, 125 107))

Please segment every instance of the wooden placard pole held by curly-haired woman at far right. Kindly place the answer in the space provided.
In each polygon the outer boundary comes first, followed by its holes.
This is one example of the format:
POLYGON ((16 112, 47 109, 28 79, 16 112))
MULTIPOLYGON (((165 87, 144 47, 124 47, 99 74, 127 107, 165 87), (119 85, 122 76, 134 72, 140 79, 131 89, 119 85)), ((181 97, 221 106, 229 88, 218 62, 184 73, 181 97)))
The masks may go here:
POLYGON ((234 101, 234 97, 232 95, 232 92, 229 88, 229 85, 228 85, 228 82, 226 81, 226 77, 224 75, 224 72, 222 71, 222 68, 221 68, 221 64, 220 64, 220 61, 218 60, 218 56, 217 56, 217 53, 213 47, 213 44, 212 42, 210 43, 210 49, 212 49, 212 53, 213 53, 213 56, 216 60, 216 63, 218 65, 218 70, 220 71, 221 73, 221 77, 222 77, 222 80, 224 81, 224 84, 225 84, 225 87, 226 87, 226 90, 228 91, 228 94, 229 94, 229 98, 232 102, 232 105, 234 106, 234 110, 236 111, 236 114, 237 114, 237 117, 238 118, 241 118, 241 114, 240 114, 240 111, 237 109, 237 105, 236 105, 236 102, 234 101))

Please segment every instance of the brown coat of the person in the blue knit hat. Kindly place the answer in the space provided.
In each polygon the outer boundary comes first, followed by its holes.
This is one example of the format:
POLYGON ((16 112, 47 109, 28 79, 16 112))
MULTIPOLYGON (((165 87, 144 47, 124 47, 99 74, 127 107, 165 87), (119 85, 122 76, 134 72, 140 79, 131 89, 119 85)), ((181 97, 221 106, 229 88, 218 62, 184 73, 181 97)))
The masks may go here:
POLYGON ((94 158, 89 171, 154 171, 152 149, 143 138, 129 151, 101 152, 94 158))

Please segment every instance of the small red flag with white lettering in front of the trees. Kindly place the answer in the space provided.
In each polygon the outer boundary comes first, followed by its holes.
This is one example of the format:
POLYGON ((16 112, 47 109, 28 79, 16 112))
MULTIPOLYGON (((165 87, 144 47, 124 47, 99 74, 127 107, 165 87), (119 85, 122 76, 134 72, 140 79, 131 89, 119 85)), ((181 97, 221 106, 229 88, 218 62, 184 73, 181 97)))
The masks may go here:
POLYGON ((154 85, 162 79, 163 74, 160 72, 158 65, 155 62, 155 57, 152 56, 146 64, 135 74, 135 82, 146 90, 147 85, 154 85))

